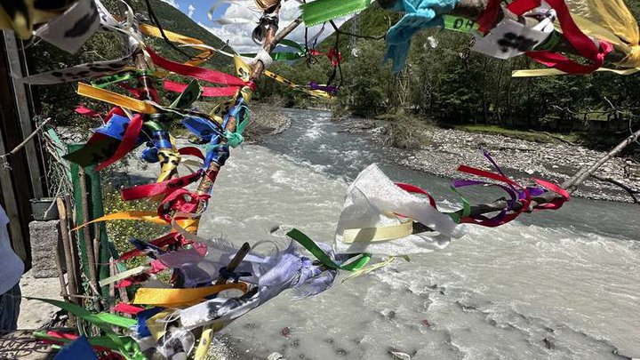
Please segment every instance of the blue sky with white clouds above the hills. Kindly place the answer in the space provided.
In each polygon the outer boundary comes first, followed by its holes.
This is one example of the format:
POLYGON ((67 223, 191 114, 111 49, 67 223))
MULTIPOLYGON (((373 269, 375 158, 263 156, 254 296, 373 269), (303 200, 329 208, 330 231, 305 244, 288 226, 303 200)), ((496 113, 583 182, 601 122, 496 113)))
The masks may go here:
MULTIPOLYGON (((198 25, 209 30, 213 35, 220 37, 222 41, 227 41, 236 52, 257 52, 260 47, 254 44, 251 38, 253 28, 256 27, 258 20, 260 19, 260 12, 251 11, 250 9, 256 9, 252 0, 235 0, 234 4, 230 4, 228 1, 219 0, 162 0, 164 3, 171 4, 173 7, 179 9, 188 15, 189 18, 196 21, 198 25), (213 12, 213 20, 209 20, 207 12, 213 4, 218 4, 213 12), (225 19, 233 20, 236 22, 250 20, 250 22, 241 22, 236 24, 221 26, 214 20, 225 19)), ((280 11, 280 28, 284 28, 290 21, 296 19, 300 15, 299 9, 300 3, 294 0, 288 0, 283 3, 283 7, 280 11)), ((335 21, 336 25, 340 26, 348 18, 342 18, 335 21)), ((308 36, 314 36, 322 28, 316 26, 309 28, 308 36)), ((327 24, 325 31, 320 36, 320 40, 324 37, 331 35, 331 26, 327 24)), ((300 26, 296 28, 291 35, 287 36, 288 39, 296 41, 298 43, 304 43, 304 27, 300 26)))

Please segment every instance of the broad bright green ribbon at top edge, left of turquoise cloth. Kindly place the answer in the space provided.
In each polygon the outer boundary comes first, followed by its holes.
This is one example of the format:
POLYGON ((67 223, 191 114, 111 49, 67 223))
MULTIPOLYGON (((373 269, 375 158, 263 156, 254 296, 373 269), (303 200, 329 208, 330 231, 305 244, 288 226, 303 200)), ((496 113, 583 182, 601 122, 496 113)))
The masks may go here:
POLYGON ((307 27, 361 12, 372 0, 316 0, 301 4, 302 20, 307 27))

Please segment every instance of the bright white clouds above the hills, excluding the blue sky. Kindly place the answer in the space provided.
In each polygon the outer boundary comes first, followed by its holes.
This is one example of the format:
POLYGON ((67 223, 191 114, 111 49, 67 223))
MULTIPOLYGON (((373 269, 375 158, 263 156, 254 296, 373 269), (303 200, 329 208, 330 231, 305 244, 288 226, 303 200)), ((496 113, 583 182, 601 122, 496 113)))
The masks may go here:
MULTIPOLYGON (((258 52, 260 45, 254 44, 251 38, 253 28, 256 27, 258 19, 260 19, 260 12, 252 12, 248 9, 252 5, 249 1, 240 1, 236 4, 231 4, 227 11, 220 17, 228 20, 236 21, 248 21, 239 24, 231 24, 225 26, 205 26, 203 23, 198 23, 203 28, 209 30, 213 35, 220 37, 222 41, 228 41, 229 44, 236 50, 236 52, 258 52), (240 4, 237 4, 240 3, 240 4)), ((291 22, 300 16, 300 4, 294 1, 288 1, 283 3, 283 7, 280 10, 280 28, 284 28, 291 22)), ((215 19, 214 19, 215 20, 215 19)), ((337 26, 343 24, 348 17, 335 20, 337 26)), ((316 35, 322 28, 321 25, 311 27, 308 30, 308 37, 316 35)), ((327 24, 324 29, 324 33, 320 36, 318 42, 322 41, 326 36, 331 35, 333 29, 327 24)), ((296 28, 292 34, 287 36, 288 39, 296 41, 298 43, 304 43, 304 26, 300 25, 296 28)))

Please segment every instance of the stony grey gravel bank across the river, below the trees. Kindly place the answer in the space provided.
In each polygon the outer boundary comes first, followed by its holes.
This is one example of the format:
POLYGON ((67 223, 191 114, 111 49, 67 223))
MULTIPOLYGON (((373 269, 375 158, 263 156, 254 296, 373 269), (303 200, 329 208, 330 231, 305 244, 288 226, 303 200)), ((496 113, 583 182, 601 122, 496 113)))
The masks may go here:
MULTIPOLYGON (((341 122, 345 132, 372 132, 380 145, 385 146, 386 121, 349 119, 341 122)), ((593 164, 604 156, 596 151, 571 144, 562 140, 550 139, 548 142, 517 139, 500 134, 467 132, 458 129, 444 129, 436 126, 424 126, 417 136, 423 138, 420 148, 395 148, 398 164, 413 170, 428 172, 449 179, 460 178, 456 169, 459 164, 491 169, 490 164, 479 151, 487 149, 492 157, 508 174, 527 183, 537 177, 562 182, 578 172, 581 167, 593 164)), ((619 181, 629 188, 640 188, 640 178, 626 176, 626 169, 638 167, 631 159, 615 157, 603 165, 596 175, 619 181)), ((574 196, 594 200, 633 202, 633 198, 620 187, 609 182, 588 179, 574 193, 574 196)))

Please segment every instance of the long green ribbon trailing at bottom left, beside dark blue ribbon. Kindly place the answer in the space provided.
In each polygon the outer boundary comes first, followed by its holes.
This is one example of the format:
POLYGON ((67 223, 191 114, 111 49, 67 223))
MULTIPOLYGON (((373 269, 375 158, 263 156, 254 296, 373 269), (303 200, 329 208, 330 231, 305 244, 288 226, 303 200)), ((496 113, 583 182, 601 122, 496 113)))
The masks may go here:
POLYGON ((137 324, 136 320, 108 313, 93 314, 86 308, 81 308, 76 304, 60 300, 29 297, 27 299, 44 301, 46 303, 52 304, 53 306, 66 310, 69 314, 73 314, 76 317, 83 319, 87 323, 94 324, 102 332, 104 332, 106 338, 109 339, 108 344, 106 344, 108 346, 105 346, 105 348, 110 348, 116 351, 117 353, 124 356, 127 360, 145 360, 147 358, 146 356, 144 356, 144 354, 142 354, 142 351, 140 351, 140 347, 135 340, 133 340, 129 336, 119 336, 111 329, 111 326, 118 326, 128 329, 137 324))

